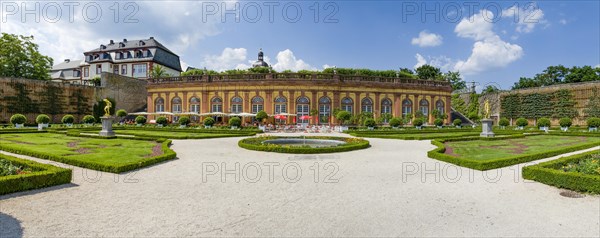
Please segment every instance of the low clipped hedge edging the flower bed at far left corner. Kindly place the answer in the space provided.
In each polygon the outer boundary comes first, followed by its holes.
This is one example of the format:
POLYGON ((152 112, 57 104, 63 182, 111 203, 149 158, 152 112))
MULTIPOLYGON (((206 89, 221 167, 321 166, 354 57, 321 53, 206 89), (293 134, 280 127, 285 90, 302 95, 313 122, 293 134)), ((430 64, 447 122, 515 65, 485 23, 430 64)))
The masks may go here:
POLYGON ((0 154, 0 159, 17 166, 30 168, 33 172, 0 177, 0 195, 66 184, 71 182, 70 169, 41 164, 30 160, 0 154))

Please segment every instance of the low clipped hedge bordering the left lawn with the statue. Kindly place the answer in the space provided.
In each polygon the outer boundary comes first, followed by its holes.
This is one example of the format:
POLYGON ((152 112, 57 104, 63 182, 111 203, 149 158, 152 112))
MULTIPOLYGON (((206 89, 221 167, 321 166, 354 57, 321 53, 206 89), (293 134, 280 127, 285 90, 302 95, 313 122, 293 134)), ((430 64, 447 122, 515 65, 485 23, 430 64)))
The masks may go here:
MULTIPOLYGON (((72 135, 73 133, 74 132, 68 132, 67 134, 72 135)), ((77 136, 102 139, 101 137, 95 137, 95 136, 89 136, 89 135, 77 135, 77 136)), ((110 138, 105 138, 105 139, 110 139, 110 138)), ((148 140, 147 138, 127 138, 127 139, 148 140)), ((148 158, 143 161, 131 162, 129 164, 122 164, 122 165, 114 165, 114 164, 94 162, 94 161, 71 160, 71 159, 69 159, 68 156, 57 156, 57 155, 45 154, 45 153, 41 153, 41 152, 30 151, 30 150, 27 150, 26 148, 8 147, 8 146, 4 146, 2 144, 0 144, 0 150, 4 150, 7 152, 20 154, 20 155, 32 156, 32 157, 36 157, 36 158, 40 158, 40 159, 52 160, 52 161, 70 164, 70 165, 74 165, 74 166, 78 166, 78 167, 82 167, 82 168, 88 168, 88 169, 99 170, 99 171, 110 172, 110 173, 122 173, 122 172, 127 172, 127 171, 138 169, 138 168, 143 168, 143 167, 153 165, 156 163, 160 163, 160 162, 163 162, 166 160, 171 160, 177 156, 175 151, 173 151, 169 148, 169 146, 171 145, 171 140, 165 140, 165 139, 152 139, 152 140, 156 141, 157 143, 162 143, 162 151, 163 151, 162 155, 148 158)))

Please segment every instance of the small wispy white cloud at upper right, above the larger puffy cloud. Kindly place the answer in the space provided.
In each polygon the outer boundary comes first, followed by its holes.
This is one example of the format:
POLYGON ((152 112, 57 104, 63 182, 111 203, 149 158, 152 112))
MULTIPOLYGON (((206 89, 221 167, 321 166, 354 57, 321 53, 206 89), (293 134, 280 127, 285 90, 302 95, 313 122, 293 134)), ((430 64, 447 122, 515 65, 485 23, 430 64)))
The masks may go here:
POLYGON ((519 33, 530 33, 538 24, 549 25, 544 19, 544 11, 535 5, 512 6, 502 11, 502 17, 512 18, 517 24, 515 30, 519 33))

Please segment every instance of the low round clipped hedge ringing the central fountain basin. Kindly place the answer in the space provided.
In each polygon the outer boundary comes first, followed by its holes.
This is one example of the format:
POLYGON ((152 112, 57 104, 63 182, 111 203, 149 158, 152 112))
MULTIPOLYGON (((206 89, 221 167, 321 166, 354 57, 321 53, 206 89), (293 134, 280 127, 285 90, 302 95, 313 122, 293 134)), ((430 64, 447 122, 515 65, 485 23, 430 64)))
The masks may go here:
POLYGON ((279 136, 265 136, 265 137, 252 137, 240 140, 238 146, 257 151, 276 152, 276 153, 288 153, 288 154, 324 154, 324 153, 336 153, 353 150, 361 150, 369 148, 371 145, 369 141, 360 138, 344 138, 344 137, 330 137, 330 136, 310 136, 306 139, 322 139, 322 140, 339 140, 345 141, 346 144, 333 146, 333 147, 321 147, 321 148, 310 148, 310 147, 294 147, 294 146, 281 146, 281 145, 263 145, 262 142, 265 140, 272 139, 283 139, 283 138, 303 138, 303 137, 279 137, 279 136))

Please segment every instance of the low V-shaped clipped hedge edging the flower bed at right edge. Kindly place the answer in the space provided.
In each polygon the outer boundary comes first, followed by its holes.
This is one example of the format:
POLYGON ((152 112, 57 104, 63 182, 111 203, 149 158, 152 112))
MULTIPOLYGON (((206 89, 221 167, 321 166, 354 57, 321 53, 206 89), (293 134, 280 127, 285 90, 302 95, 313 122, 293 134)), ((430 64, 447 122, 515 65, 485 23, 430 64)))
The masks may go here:
POLYGON ((559 188, 598 194, 600 193, 600 176, 577 172, 564 172, 559 169, 566 164, 589 158, 594 154, 598 154, 598 151, 586 152, 524 167, 523 178, 559 188))

